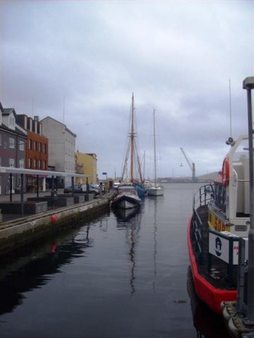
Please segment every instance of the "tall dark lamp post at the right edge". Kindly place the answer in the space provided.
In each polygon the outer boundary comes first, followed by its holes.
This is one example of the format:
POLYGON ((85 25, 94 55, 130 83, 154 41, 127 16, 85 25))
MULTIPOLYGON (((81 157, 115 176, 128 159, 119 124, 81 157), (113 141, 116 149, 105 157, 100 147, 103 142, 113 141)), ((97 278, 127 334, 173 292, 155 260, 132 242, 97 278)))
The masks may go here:
POLYGON ((250 170, 250 230, 248 232, 248 306, 246 324, 254 324, 254 177, 253 177, 253 116, 251 90, 254 89, 254 76, 243 80, 248 100, 248 143, 250 170))

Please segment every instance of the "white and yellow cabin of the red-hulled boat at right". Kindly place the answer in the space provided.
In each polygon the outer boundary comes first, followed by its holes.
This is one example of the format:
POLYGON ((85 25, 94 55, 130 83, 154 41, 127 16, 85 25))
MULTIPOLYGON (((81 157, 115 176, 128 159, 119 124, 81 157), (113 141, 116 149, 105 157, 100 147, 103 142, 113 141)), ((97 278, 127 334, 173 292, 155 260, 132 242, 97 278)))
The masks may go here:
POLYGON ((250 179, 248 135, 231 143, 222 171, 214 180, 214 200, 209 206, 209 224, 214 230, 248 236, 250 223, 250 179))

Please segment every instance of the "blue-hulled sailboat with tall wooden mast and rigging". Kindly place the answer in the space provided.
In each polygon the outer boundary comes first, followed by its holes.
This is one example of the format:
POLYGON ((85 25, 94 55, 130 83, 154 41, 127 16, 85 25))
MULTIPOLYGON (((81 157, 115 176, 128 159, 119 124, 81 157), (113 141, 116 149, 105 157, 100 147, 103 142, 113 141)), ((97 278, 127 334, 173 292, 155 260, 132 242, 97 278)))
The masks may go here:
POLYGON ((131 122, 130 122, 130 129, 128 132, 129 142, 126 149, 126 158, 123 165, 123 173, 121 176, 121 184, 131 184, 135 189, 138 191, 139 197, 145 196, 145 187, 144 187, 144 180, 141 173, 141 164, 140 164, 140 157, 138 155, 138 146, 135 142, 135 139, 137 137, 137 132, 135 130, 135 106, 134 106, 134 94, 132 94, 132 100, 131 100, 131 122), (124 176, 127 173, 127 165, 128 165, 128 158, 130 157, 130 177, 129 180, 124 179, 124 176), (138 177, 134 177, 134 171, 137 169, 138 177))

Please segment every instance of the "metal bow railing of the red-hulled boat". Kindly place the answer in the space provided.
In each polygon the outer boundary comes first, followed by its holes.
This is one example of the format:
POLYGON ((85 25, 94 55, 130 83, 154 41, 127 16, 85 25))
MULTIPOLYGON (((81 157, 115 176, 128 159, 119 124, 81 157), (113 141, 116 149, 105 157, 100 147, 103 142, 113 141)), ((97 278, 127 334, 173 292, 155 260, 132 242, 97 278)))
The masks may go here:
POLYGON ((209 201, 214 199, 214 186, 212 184, 205 184, 193 196, 193 217, 192 217, 192 231, 193 241, 195 242, 195 252, 198 255, 198 262, 202 264, 203 259, 203 220, 200 218, 200 207, 207 206, 209 201))

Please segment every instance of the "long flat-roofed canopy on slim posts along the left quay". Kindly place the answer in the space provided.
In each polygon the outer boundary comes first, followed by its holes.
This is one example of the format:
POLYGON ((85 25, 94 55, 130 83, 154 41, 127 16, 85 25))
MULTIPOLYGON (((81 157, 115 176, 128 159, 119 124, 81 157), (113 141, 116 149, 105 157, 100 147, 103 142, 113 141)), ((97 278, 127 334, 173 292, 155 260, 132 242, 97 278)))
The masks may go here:
MULTIPOLYGON (((39 177, 51 177, 54 181, 54 177, 70 177, 71 176, 71 182, 72 186, 74 185, 74 177, 83 177, 88 178, 90 175, 81 175, 81 174, 75 174, 75 173, 62 173, 59 171, 52 171, 52 170, 35 170, 35 169, 25 169, 25 168, 13 168, 13 167, 1 167, 0 166, 0 173, 3 174, 10 174, 10 177, 12 175, 20 175, 21 177, 21 184, 20 184, 20 203, 21 203, 21 213, 23 215, 24 211, 24 175, 36 175, 37 180, 39 180, 39 177)), ((11 180, 10 180, 11 182, 11 180)), ((57 187, 56 187, 57 189, 57 187)), ((74 189, 73 189, 74 191, 74 189)), ((10 187, 10 201, 12 201, 12 187, 10 187)), ((56 192, 54 192, 54 184, 52 184, 52 199, 54 199, 56 192)), ((39 184, 37 184, 37 196, 39 196, 39 184)))

